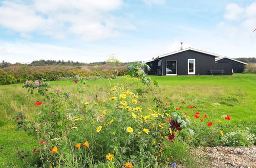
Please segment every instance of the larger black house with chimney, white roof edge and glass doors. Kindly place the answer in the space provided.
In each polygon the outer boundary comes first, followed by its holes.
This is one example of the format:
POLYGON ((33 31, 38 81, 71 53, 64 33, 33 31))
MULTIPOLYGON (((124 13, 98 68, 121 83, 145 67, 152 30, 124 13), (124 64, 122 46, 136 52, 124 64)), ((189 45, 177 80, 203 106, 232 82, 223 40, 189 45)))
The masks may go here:
POLYGON ((195 48, 182 48, 179 51, 159 55, 145 61, 151 70, 144 71, 155 75, 232 75, 232 63, 216 60, 221 55, 195 48))

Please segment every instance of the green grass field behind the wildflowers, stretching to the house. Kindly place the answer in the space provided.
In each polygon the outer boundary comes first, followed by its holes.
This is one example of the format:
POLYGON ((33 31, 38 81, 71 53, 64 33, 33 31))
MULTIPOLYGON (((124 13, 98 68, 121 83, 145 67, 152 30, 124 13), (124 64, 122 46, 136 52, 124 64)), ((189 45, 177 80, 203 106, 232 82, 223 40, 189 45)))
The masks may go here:
MULTIPOLYGON (((181 110, 194 105, 196 110, 207 113, 211 117, 228 114, 232 120, 230 127, 249 127, 253 133, 256 128, 256 75, 234 74, 233 76, 151 76, 159 82, 160 87, 154 88, 163 102, 168 102, 181 110)), ((124 77, 117 79, 119 83, 136 83, 126 81, 124 77)), ((111 82, 117 82, 116 79, 111 82)), ((105 100, 106 90, 103 80, 89 80, 86 96, 75 94, 74 83, 70 81, 52 81, 56 89, 69 91, 74 101, 105 100), (97 95, 97 96, 96 96, 97 95)), ((140 86, 140 84, 138 84, 140 86)), ((3 167, 19 164, 14 154, 19 149, 31 149, 37 145, 34 137, 23 131, 14 131, 15 123, 12 116, 23 111, 32 119, 43 106, 35 106, 34 102, 42 100, 39 94, 29 95, 21 84, 0 86, 0 165, 3 167)), ((144 95, 139 99, 142 107, 152 106, 152 96, 144 95)), ((47 106, 47 104, 45 104, 47 106)))

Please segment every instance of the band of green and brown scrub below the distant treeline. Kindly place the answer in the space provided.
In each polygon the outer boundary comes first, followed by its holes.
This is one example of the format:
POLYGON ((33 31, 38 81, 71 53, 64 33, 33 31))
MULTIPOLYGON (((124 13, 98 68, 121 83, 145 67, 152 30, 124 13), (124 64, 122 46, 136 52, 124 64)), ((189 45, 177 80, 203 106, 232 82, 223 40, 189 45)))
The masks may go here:
MULTIPOLYGON (((124 75, 126 72, 127 72, 127 69, 117 70, 117 74, 119 76, 124 75)), ((69 70, 37 71, 37 70, 31 70, 31 69, 28 70, 22 67, 15 71, 5 71, 0 69, 0 85, 18 83, 20 82, 20 78, 22 77, 26 78, 26 76, 29 76, 29 80, 40 80, 41 78, 44 78, 48 81, 53 81, 53 80, 69 79, 77 74, 86 78, 115 78, 116 77, 115 70, 86 71, 86 70, 79 70, 77 68, 73 68, 69 70)))

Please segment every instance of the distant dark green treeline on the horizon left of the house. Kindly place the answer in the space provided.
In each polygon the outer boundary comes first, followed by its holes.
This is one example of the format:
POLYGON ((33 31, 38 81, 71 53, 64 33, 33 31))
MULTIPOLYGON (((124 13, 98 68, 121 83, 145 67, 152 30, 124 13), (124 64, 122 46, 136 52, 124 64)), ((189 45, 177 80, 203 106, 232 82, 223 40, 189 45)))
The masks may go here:
MULTIPOLYGON (((120 63, 120 65, 130 65, 134 62, 124 62, 120 63)), ((4 60, 2 63, 0 63, 0 68, 12 66, 12 65, 28 65, 28 66, 44 66, 44 65, 65 65, 65 66, 82 66, 82 65, 89 65, 89 66, 95 66, 95 65, 105 65, 107 64, 105 61, 103 62, 93 62, 93 63, 81 63, 81 62, 73 62, 73 61, 55 61, 55 60, 38 60, 38 61, 32 61, 30 64, 20 64, 15 63, 11 64, 8 62, 5 62, 4 60)))

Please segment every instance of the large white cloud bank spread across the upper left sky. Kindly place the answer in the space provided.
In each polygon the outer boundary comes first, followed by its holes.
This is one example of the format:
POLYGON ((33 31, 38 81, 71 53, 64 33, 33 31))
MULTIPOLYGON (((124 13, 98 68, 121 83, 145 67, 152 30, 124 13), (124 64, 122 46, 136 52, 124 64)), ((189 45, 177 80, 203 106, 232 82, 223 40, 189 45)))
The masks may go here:
POLYGON ((0 25, 21 35, 40 32, 63 39, 76 35, 84 40, 120 36, 121 30, 135 27, 124 17, 111 14, 121 0, 34 0, 25 5, 4 1, 0 6, 0 25))

